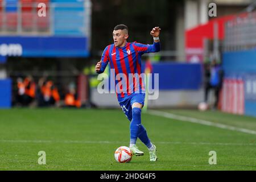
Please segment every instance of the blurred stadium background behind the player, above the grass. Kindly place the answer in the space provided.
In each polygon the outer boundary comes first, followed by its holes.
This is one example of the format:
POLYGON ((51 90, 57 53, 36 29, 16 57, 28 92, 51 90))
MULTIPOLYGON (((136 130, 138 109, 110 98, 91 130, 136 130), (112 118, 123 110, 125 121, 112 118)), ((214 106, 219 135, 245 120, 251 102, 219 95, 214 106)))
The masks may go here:
MULTIPOLYGON (((149 108, 199 108, 256 116, 256 1, 0 0, 0 107, 119 107, 99 94, 95 64, 117 24, 159 73, 149 108), (38 16, 45 3, 46 16, 38 16), (209 16, 214 10, 216 16, 209 16)), ((147 63, 147 64, 145 64, 147 63)), ((106 69, 108 73, 108 69, 106 69)))

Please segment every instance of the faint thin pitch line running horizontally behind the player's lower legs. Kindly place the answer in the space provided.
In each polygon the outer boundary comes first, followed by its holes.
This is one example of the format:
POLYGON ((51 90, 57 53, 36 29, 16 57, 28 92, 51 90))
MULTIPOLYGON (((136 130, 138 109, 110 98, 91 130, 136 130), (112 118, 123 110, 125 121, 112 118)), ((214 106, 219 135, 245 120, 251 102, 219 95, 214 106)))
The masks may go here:
MULTIPOLYGON (((0 140, 0 143, 127 143, 127 141, 86 141, 86 140, 0 140)), ((192 144, 192 145, 222 145, 222 146, 256 146, 256 143, 210 143, 210 142, 157 142, 159 144, 192 144)))

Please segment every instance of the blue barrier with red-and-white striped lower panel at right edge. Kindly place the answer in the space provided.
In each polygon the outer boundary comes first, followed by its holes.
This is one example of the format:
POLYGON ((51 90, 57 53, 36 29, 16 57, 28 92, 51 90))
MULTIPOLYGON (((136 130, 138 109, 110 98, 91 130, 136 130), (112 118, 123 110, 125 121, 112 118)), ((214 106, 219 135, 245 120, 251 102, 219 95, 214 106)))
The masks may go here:
POLYGON ((255 60, 255 50, 223 54, 225 96, 222 97, 222 111, 256 116, 255 60))

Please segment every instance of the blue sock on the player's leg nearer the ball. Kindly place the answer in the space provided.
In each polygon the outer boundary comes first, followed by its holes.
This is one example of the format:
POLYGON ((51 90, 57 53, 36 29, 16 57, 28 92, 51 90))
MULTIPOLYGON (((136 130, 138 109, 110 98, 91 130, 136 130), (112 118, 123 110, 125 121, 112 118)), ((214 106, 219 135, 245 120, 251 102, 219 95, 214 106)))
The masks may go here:
POLYGON ((130 123, 130 144, 136 144, 138 135, 141 131, 141 109, 134 107, 132 109, 133 119, 130 123))

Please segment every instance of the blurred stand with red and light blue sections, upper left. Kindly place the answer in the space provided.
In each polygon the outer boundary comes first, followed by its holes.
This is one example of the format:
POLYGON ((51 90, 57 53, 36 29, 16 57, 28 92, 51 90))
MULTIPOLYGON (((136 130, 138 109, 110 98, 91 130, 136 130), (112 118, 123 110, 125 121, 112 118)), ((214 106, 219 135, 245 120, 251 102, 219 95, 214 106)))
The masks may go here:
POLYGON ((85 1, 77 0, 1 0, 0 33, 84 36, 85 9, 85 1), (46 5, 46 16, 38 16, 40 3, 46 5))

